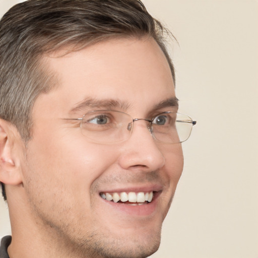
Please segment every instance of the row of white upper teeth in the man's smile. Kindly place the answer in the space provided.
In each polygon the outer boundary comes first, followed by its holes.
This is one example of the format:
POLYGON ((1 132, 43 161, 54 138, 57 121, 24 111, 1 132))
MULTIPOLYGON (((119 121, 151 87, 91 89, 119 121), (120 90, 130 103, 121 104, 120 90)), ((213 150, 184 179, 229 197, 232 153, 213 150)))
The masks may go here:
POLYGON ((100 196, 103 199, 106 199, 107 201, 113 201, 115 203, 121 201, 121 202, 130 202, 130 203, 144 203, 146 201, 148 201, 149 203, 152 201, 153 199, 153 191, 150 192, 113 192, 113 193, 109 193, 109 192, 102 192, 100 194, 100 196))

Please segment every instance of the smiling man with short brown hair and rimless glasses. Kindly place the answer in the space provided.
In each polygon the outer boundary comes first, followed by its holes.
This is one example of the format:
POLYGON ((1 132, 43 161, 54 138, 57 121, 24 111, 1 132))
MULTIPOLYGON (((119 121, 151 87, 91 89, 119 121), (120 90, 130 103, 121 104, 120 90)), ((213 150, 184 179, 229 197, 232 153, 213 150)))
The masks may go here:
POLYGON ((2 257, 147 257, 195 124, 138 0, 30 0, 0 23, 2 257), (8 256, 9 255, 9 256, 8 256))

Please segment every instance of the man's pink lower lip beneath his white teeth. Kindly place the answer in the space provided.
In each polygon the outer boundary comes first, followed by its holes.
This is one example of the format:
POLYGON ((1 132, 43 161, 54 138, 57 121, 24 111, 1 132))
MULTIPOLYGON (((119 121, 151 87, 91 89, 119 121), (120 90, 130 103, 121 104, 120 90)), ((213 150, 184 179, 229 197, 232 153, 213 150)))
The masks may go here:
POLYGON ((160 192, 155 192, 154 193, 154 198, 151 203, 148 204, 143 204, 143 205, 128 205, 128 204, 123 204, 123 203, 114 203, 111 201, 107 201, 101 199, 108 205, 110 205, 113 209, 118 210, 119 212, 126 213, 127 215, 130 216, 150 216, 152 215, 158 205, 158 197, 160 195, 160 192))

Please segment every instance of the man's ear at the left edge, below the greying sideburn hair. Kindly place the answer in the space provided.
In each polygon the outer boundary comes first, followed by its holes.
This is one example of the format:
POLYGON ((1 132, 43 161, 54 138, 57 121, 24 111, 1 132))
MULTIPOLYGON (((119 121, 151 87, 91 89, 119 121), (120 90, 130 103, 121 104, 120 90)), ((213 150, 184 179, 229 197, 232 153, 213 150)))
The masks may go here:
POLYGON ((22 183, 20 166, 15 156, 15 139, 19 133, 14 125, 0 119, 0 181, 4 184, 22 183))

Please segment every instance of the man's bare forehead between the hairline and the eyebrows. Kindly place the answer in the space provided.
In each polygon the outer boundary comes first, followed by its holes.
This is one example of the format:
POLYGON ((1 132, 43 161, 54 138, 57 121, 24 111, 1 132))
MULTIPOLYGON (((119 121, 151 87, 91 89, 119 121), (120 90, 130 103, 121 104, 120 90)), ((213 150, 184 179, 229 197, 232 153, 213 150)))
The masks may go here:
POLYGON ((140 108, 175 96, 169 64, 154 39, 112 39, 65 55, 63 51, 44 60, 59 86, 39 96, 35 108, 48 101, 69 113, 89 98, 140 108))

